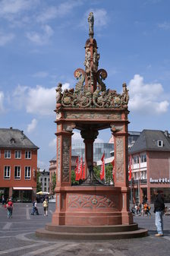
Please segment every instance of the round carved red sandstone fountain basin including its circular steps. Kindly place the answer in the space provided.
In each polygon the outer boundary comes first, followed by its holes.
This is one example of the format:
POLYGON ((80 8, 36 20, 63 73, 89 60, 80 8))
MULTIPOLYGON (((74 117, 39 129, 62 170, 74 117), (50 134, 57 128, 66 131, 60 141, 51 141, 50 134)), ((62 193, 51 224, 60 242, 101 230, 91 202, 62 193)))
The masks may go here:
POLYGON ((36 235, 50 239, 129 239, 147 235, 123 210, 122 189, 105 186, 55 188, 52 223, 36 235))

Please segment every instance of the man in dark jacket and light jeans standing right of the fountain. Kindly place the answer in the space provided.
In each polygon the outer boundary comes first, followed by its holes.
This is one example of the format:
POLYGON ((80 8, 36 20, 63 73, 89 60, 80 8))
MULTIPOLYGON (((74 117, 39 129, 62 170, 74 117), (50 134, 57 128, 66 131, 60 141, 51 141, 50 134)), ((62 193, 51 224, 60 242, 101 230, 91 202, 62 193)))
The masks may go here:
POLYGON ((154 189, 154 213, 156 213, 156 236, 163 236, 163 214, 165 210, 164 198, 161 194, 162 191, 154 189))

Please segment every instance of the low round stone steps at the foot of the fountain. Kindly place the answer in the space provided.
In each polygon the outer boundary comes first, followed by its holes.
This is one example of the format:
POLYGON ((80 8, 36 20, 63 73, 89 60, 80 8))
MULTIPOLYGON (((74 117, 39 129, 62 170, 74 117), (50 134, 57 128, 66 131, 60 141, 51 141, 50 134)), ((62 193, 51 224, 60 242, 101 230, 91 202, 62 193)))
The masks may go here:
POLYGON ((138 229, 136 223, 114 226, 55 226, 49 223, 46 229, 37 229, 36 235, 57 240, 132 239, 146 236, 147 230, 138 229))

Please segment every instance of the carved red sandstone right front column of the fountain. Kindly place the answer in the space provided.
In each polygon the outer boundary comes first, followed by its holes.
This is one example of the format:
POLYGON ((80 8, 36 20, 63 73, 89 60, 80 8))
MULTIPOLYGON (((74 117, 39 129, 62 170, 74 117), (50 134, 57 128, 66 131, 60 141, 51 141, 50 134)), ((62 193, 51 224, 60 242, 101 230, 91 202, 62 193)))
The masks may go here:
POLYGON ((115 187, 121 187, 122 194, 122 223, 133 223, 133 216, 129 210, 128 187, 128 124, 124 122, 120 125, 111 124, 114 136, 115 147, 115 187))

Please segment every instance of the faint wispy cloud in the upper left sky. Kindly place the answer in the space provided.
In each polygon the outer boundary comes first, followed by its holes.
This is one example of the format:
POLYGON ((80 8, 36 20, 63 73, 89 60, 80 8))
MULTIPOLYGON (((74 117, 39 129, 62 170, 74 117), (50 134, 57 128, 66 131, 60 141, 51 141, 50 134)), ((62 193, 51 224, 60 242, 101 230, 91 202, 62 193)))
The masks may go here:
POLYGON ((50 27, 49 25, 43 26, 42 30, 43 33, 37 33, 34 31, 27 32, 26 36, 32 43, 36 43, 37 45, 45 45, 46 43, 49 43, 49 39, 54 32, 52 30, 52 27, 50 27))

